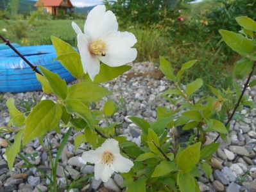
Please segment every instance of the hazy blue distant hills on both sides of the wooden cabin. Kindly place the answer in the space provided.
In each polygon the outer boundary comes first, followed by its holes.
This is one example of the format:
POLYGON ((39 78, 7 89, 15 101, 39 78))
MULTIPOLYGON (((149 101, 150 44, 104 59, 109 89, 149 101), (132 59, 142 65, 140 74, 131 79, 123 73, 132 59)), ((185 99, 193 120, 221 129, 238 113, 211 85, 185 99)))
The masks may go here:
MULTIPOLYGON (((0 0, 0 1, 3 1, 3 3, 0 3, 0 10, 4 10, 4 8, 6 8, 10 0, 0 0)), ((20 2, 19 13, 30 13, 37 10, 37 8, 35 8, 34 6, 36 1, 20 0, 19 2, 20 2)), ((87 6, 83 8, 74 7, 74 13, 87 14, 90 12, 90 10, 92 10, 92 8, 94 8, 94 6, 87 6)))

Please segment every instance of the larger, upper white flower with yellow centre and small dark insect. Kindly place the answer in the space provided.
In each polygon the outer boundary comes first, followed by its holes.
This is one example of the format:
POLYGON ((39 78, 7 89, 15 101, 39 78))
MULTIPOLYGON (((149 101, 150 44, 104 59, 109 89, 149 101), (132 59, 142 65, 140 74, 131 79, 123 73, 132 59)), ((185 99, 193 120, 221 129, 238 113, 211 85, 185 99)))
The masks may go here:
POLYGON ((132 33, 117 31, 117 19, 104 5, 93 8, 85 21, 84 33, 72 22, 78 34, 78 50, 81 55, 83 71, 90 79, 99 74, 100 61, 110 67, 119 67, 130 63, 137 57, 132 48, 137 39, 132 33))

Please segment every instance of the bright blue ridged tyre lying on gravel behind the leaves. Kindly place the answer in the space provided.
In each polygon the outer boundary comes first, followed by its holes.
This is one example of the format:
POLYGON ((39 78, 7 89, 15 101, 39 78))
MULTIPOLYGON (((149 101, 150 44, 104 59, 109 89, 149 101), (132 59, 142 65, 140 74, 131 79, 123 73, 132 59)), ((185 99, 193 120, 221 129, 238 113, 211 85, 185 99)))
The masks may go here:
MULTIPOLYGON (((17 50, 33 65, 42 65, 57 73, 67 83, 74 80, 58 61, 54 61, 56 54, 53 45, 18 47, 17 50)), ((36 90, 42 90, 42 86, 28 64, 12 49, 0 51, 0 92, 21 93, 36 90)))

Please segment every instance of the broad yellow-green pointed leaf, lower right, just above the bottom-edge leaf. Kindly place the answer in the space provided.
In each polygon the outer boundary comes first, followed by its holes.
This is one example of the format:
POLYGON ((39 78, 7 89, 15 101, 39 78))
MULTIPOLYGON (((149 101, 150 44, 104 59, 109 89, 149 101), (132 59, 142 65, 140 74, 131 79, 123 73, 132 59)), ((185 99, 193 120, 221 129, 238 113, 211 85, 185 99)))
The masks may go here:
POLYGON ((176 156, 176 164, 178 168, 185 173, 189 173, 200 159, 201 143, 195 143, 185 148, 176 156))

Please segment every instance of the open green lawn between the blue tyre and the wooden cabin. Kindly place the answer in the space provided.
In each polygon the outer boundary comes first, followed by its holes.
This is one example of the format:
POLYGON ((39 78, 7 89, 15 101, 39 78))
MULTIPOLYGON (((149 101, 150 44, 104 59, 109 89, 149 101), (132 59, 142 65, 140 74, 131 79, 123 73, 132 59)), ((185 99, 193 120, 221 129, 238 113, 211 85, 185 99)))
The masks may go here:
MULTIPOLYGON (((75 44, 76 33, 71 26, 72 20, 0 20, 0 33, 11 42, 21 45, 51 44, 51 35, 58 36, 69 44, 75 44), (7 33, 2 29, 7 29, 7 33)), ((83 28, 84 20, 74 20, 83 28)))

